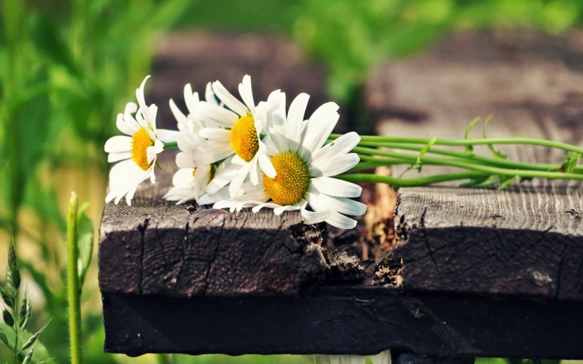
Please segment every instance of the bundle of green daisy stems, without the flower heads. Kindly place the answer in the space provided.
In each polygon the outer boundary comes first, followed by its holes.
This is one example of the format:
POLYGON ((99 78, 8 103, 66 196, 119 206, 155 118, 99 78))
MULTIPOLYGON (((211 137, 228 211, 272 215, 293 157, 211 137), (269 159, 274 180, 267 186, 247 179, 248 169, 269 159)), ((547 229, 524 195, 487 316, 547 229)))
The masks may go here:
MULTIPOLYGON (((475 124, 475 122, 473 122, 475 124)), ((471 124, 471 126, 473 126, 471 124)), ((469 127, 471 129, 471 127, 469 127)), ((360 156, 360 163, 351 171, 370 170, 377 166, 408 166, 421 170, 422 166, 447 166, 459 169, 454 173, 440 173, 417 178, 380 176, 375 173, 351 173, 338 176, 351 182, 389 183, 392 186, 427 186, 446 181, 466 181, 462 186, 505 188, 515 180, 532 178, 569 179, 583 181, 583 166, 577 162, 583 156, 583 148, 571 144, 545 139, 530 138, 487 138, 468 139, 425 139, 407 137, 363 136, 353 151, 360 156), (495 145, 541 146, 559 149, 565 153, 565 161, 560 164, 528 163, 515 161, 494 148, 495 145), (492 156, 478 155, 474 146, 486 145, 492 156), (440 148, 458 146, 463 150, 440 148)), ((332 134, 330 139, 336 139, 332 134)))

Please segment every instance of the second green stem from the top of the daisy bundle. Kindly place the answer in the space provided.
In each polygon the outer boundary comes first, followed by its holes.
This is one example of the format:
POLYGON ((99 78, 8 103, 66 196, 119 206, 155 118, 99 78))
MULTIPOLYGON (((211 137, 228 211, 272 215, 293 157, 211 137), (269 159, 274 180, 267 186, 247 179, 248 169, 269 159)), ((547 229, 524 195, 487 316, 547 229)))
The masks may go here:
MULTIPOLYGON (((408 151, 422 151, 424 146, 417 146, 413 144, 400 144, 400 143, 380 143, 380 142, 361 142, 358 146, 373 146, 373 147, 385 147, 390 149, 402 149, 408 151)), ((432 148, 427 149, 427 154, 440 154, 442 156, 453 156, 458 159, 466 159, 476 164, 483 164, 486 166, 499 166, 502 168, 518 168, 518 169, 530 169, 533 171, 557 171, 560 166, 555 164, 535 164, 526 163, 521 161, 512 161, 509 159, 492 158, 488 156, 478 156, 468 155, 461 151, 451 151, 449 149, 432 148)), ((576 167, 574 169, 577 173, 583 173, 583 167, 576 167)))

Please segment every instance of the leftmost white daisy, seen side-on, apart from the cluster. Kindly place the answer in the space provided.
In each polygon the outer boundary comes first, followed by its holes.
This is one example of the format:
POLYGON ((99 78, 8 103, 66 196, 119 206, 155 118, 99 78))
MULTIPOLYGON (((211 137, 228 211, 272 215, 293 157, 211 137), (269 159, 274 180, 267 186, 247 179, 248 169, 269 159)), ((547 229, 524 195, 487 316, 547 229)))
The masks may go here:
POLYGON ((109 153, 107 161, 115 164, 109 171, 109 193, 105 197, 108 203, 119 203, 126 196, 128 205, 142 181, 150 179, 156 182, 154 165, 156 155, 164 150, 164 141, 176 141, 177 132, 156 129, 156 105, 146 105, 144 85, 150 76, 146 76, 136 90, 138 105, 128 102, 123 114, 117 115, 117 129, 126 134, 109 138, 105 142, 105 151, 109 153))

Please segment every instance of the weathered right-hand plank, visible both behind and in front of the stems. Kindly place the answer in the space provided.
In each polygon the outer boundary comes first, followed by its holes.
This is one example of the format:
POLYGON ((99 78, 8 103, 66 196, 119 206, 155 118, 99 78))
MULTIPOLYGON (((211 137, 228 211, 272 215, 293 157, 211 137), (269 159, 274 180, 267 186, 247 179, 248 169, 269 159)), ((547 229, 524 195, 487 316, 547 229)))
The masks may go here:
MULTIPOLYGON (((379 68, 368 105, 383 135, 461 138, 471 119, 493 114, 489 137, 583 146, 582 64, 583 33, 460 34, 379 68)), ((481 137, 480 129, 471 135, 481 137)), ((557 166, 564 155, 499 149, 510 159, 557 166)), ((486 147, 476 151, 490 155, 486 147)), ((424 166, 422 175, 451 171, 424 166)), ((402 287, 583 299, 582 183, 533 180, 504 191, 457 184, 400 189, 394 253, 404 262, 402 287)))

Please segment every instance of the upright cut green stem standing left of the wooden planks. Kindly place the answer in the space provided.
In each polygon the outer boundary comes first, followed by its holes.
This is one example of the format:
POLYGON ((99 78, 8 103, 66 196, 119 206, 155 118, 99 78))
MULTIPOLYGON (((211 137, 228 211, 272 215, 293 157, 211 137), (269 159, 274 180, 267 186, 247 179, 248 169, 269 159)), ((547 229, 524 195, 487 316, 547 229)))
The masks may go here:
POLYGON ((77 272, 79 250, 77 247, 77 208, 79 199, 71 193, 69 214, 67 218, 67 294, 69 300, 69 338, 71 350, 71 364, 81 364, 81 306, 80 284, 77 272))

